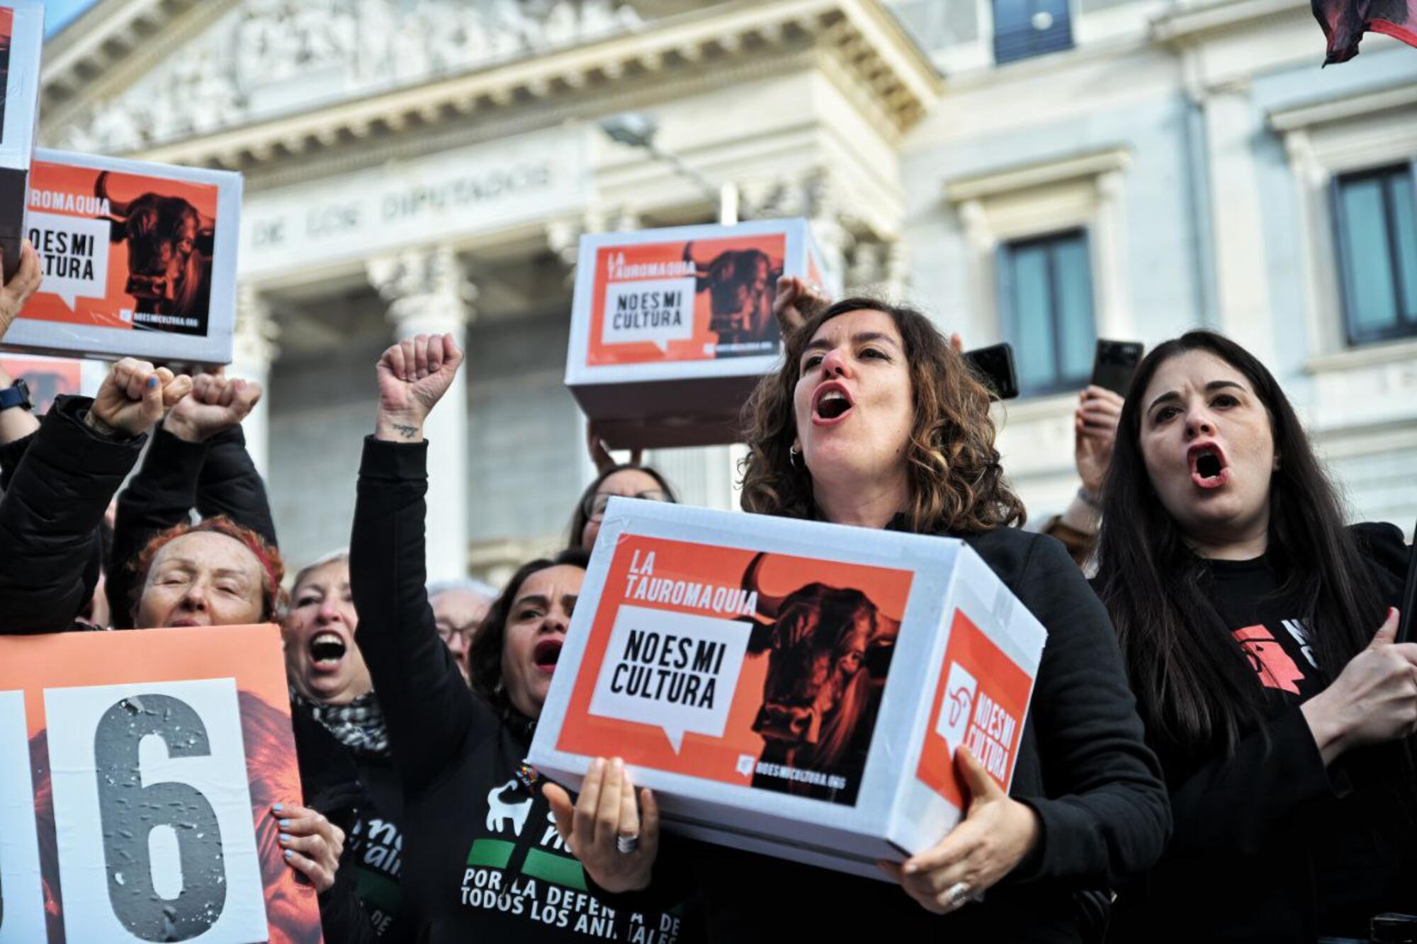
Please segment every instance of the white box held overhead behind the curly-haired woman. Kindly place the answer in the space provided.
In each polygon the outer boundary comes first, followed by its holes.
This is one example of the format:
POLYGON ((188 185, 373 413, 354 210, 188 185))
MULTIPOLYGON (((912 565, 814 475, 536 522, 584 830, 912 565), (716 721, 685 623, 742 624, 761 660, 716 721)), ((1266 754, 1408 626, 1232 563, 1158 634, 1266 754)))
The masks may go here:
POLYGON ((565 383, 614 446, 731 442, 782 353, 778 278, 825 272, 805 220, 581 237, 565 383))

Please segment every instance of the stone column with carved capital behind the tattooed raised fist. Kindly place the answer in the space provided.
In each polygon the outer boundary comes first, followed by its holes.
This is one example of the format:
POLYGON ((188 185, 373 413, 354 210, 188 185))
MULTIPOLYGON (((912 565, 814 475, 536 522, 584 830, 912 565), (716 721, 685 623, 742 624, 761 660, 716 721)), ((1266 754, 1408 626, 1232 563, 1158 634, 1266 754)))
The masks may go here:
MULTIPOLYGON (((466 352, 476 289, 451 245, 419 247, 368 261, 368 278, 388 302, 394 340, 452 335, 466 352)), ((468 364, 429 414, 428 580, 468 573, 468 364)))

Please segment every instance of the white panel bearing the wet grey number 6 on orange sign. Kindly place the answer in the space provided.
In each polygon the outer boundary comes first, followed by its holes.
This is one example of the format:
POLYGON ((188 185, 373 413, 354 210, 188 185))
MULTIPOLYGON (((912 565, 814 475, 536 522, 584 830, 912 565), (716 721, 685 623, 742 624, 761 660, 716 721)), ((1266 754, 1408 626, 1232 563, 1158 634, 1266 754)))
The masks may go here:
POLYGON ((65 937, 113 944, 266 940, 235 679, 45 689, 44 707, 65 937), (135 775, 140 790, 123 785, 135 775), (115 785, 122 790, 111 795, 111 815, 133 811, 136 819, 106 832, 101 791, 115 785), (213 824, 220 839, 208 832, 213 824), (198 875, 179 859, 183 843, 198 850, 198 875), (160 924, 174 906, 163 897, 188 884, 204 903, 197 914, 207 927, 197 935, 173 927, 140 937, 119 914, 160 924), (139 894, 145 887, 154 894, 139 894))

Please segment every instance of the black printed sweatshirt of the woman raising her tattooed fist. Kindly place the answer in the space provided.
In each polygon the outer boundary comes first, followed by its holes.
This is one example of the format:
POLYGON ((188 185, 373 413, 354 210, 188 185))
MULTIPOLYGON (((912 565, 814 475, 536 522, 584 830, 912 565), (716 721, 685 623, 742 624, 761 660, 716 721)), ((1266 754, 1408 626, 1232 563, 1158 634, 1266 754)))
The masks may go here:
POLYGON ((533 721, 473 695, 438 638, 424 567, 427 444, 364 442, 350 587, 356 639, 404 785, 405 907, 419 940, 673 944, 674 914, 587 893, 534 772, 533 721))

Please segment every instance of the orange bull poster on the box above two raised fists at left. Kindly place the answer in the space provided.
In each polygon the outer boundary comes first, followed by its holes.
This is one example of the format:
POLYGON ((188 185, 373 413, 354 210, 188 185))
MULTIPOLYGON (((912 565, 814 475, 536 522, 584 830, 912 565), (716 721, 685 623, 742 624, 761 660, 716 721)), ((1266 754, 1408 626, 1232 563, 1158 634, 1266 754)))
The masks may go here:
POLYGON ((27 235, 44 285, 24 316, 207 336, 218 187, 35 160, 27 235))

